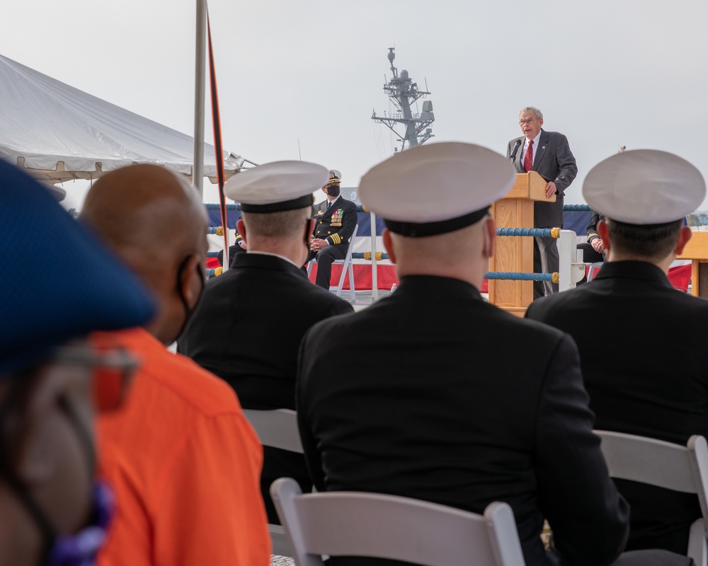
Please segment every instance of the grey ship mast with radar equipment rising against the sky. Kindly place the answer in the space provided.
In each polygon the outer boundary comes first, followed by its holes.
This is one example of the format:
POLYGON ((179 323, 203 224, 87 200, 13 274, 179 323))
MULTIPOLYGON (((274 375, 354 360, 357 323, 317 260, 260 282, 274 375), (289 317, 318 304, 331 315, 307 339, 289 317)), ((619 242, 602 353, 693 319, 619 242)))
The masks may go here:
MULTIPOLYGON (((430 93, 418 89, 418 83, 414 83, 409 78, 408 71, 405 69, 401 71, 399 76, 398 69, 394 67, 395 49, 395 47, 389 47, 389 62, 393 77, 384 84, 384 92, 387 93, 398 110, 390 113, 384 112, 383 116, 377 116, 376 110, 374 110, 371 119, 391 129, 398 136, 397 141, 401 142, 401 151, 403 151, 406 147, 424 144, 433 137, 433 129, 429 126, 435 121, 435 115, 433 115, 432 100, 423 101, 423 112, 420 114, 414 114, 411 110, 411 104, 430 93), (401 126, 405 128, 403 134, 396 131, 396 127, 400 128, 401 126)), ((399 148, 396 147, 394 152, 396 151, 399 151, 399 148)))

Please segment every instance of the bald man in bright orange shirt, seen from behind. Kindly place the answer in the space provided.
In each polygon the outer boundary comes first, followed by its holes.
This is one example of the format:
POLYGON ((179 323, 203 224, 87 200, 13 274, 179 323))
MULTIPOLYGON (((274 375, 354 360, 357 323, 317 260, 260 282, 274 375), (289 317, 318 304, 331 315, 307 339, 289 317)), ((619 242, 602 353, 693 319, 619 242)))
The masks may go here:
POLYGON ((185 181, 157 166, 94 183, 81 218, 158 302, 144 328, 96 335, 141 358, 125 408, 98 420, 102 475, 118 513, 98 564, 267 565, 263 452, 227 383, 165 345, 204 284, 207 216, 185 181))

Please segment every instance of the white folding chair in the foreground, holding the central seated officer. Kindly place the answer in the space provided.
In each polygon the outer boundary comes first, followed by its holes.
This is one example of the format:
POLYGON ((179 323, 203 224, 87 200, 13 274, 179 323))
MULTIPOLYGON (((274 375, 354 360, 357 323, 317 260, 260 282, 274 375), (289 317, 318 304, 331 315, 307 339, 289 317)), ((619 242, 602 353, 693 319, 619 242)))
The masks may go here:
POLYGON ((524 565, 514 514, 506 503, 491 503, 478 515, 380 493, 303 495, 290 478, 275 480, 270 495, 297 566, 322 566, 322 555, 425 566, 524 565))

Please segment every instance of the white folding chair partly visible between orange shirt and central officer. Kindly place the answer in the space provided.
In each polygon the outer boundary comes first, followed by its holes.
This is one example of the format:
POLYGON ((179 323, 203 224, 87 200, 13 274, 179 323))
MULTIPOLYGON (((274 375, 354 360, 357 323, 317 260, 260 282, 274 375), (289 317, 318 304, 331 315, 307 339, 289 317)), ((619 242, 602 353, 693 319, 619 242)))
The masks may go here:
MULTIPOLYGON (((263 446, 273 446, 302 454, 302 443, 297 429, 297 412, 290 409, 244 409, 244 415, 256 430, 258 439, 261 440, 263 446)), ((293 555, 282 526, 268 524, 268 532, 270 533, 273 554, 278 556, 293 555)))

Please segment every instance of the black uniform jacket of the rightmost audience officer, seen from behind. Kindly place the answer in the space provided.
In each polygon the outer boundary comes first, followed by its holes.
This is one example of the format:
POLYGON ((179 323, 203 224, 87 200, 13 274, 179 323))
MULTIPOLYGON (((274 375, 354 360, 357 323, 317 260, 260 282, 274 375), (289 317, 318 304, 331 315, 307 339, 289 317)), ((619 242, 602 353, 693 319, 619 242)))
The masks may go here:
MULTIPOLYGON (((569 333, 598 429, 686 444, 708 436, 708 301, 656 266, 607 262, 592 282, 534 301, 526 315, 569 333)), ((697 497, 617 480, 632 507, 627 550, 685 554, 697 497)))

